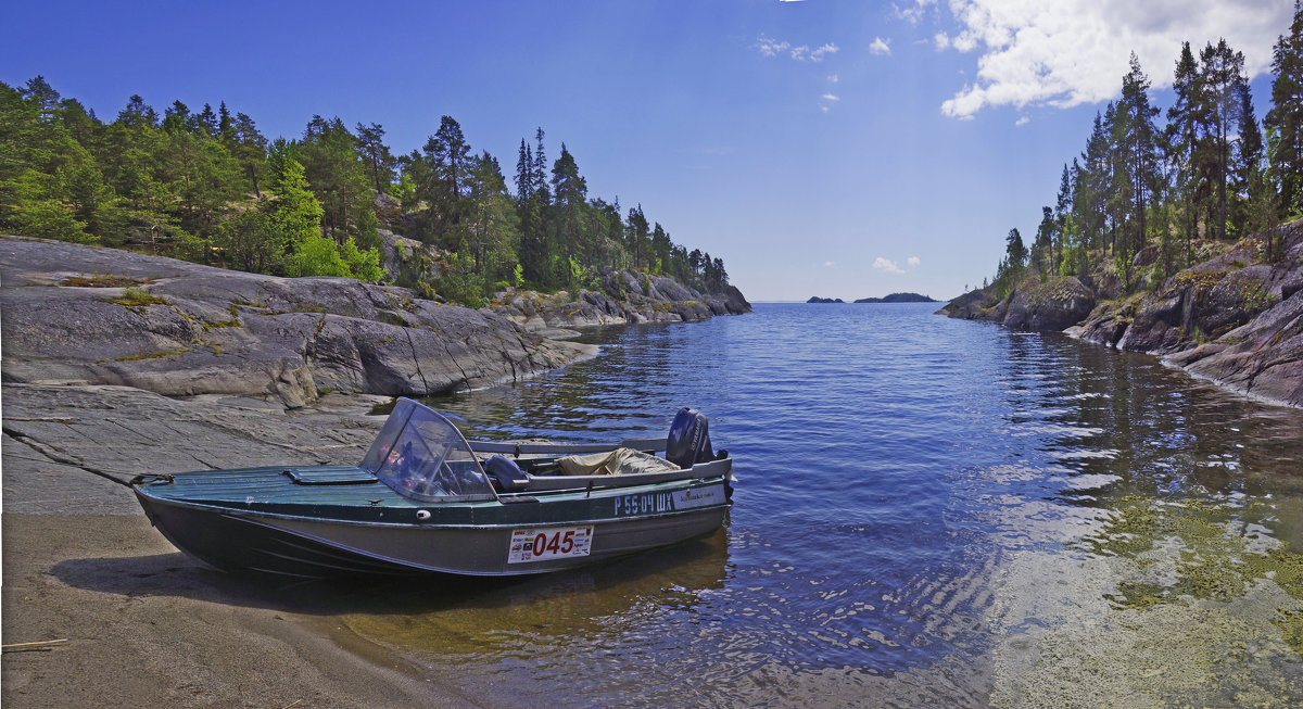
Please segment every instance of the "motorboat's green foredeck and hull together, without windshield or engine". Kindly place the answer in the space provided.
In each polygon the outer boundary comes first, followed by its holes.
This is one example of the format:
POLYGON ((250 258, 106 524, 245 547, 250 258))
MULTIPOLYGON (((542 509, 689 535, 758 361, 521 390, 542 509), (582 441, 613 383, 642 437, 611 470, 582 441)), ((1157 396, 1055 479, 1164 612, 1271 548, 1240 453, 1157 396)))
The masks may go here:
POLYGON ((313 467, 181 473, 138 484, 136 493, 175 546, 224 571, 519 576, 709 534, 723 524, 728 482, 726 470, 648 485, 422 503, 361 468, 313 467))

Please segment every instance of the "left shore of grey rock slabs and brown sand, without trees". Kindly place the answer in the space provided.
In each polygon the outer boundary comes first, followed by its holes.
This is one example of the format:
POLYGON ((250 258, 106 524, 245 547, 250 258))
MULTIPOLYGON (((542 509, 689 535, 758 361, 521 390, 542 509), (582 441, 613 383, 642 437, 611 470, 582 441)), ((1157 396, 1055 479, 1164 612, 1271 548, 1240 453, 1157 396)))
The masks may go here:
POLYGON ((549 332, 749 310, 735 289, 636 280, 627 302, 519 293, 472 310, 349 279, 0 237, 4 641, 68 640, 7 652, 0 699, 483 705, 258 583, 202 570, 108 478, 352 464, 383 424, 371 408, 395 395, 521 381, 595 353, 549 332))

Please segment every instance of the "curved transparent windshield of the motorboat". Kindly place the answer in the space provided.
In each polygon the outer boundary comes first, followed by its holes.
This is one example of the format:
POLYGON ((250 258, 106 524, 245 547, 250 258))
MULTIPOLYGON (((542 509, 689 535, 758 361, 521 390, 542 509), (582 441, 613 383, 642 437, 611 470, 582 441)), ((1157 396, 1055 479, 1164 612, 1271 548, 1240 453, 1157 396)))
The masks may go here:
POLYGON ((394 412, 362 459, 362 468, 400 495, 426 500, 495 499, 470 444, 447 418, 410 399, 394 412))

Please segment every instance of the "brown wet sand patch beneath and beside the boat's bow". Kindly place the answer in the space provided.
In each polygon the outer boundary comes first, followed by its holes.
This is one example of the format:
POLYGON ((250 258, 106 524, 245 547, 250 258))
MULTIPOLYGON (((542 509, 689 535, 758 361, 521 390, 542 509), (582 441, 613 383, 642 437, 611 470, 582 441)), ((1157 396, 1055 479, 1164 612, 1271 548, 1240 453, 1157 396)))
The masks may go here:
MULTIPOLYGON (((5 514, 5 706, 473 706, 296 607, 207 571, 141 515, 5 514)), ((288 598, 287 598, 288 597, 288 598)))

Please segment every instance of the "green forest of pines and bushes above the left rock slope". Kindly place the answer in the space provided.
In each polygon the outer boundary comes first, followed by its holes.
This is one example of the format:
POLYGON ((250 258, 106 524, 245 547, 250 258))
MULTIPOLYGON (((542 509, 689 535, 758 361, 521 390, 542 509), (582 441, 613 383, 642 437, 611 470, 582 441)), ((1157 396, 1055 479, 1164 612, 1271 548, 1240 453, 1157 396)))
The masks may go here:
POLYGON ((390 228, 444 255, 433 283, 464 302, 507 285, 595 287, 603 268, 641 268, 719 291, 719 258, 675 244, 641 205, 588 194, 575 156, 549 163, 543 130, 502 166, 443 116, 421 150, 395 156, 379 124, 314 116, 298 139, 268 141, 220 103, 160 116, 132 96, 112 121, 42 77, 0 83, 0 231, 134 248, 249 271, 374 280, 390 228))

